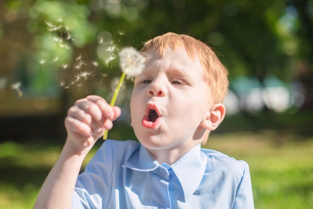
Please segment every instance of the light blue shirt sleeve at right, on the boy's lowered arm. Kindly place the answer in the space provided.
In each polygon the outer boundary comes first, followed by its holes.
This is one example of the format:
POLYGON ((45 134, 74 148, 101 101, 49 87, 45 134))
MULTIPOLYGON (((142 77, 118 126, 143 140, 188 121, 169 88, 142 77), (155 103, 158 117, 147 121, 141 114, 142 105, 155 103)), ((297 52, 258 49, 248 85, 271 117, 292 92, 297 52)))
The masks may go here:
POLYGON ((244 163, 244 170, 238 184, 232 209, 254 209, 249 166, 244 163))

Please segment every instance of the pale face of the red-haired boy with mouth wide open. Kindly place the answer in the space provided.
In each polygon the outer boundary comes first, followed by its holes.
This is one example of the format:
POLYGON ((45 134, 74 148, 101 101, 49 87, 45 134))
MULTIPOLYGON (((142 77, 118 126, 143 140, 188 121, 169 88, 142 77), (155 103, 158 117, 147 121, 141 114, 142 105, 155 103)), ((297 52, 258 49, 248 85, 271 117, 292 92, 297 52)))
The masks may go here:
POLYGON ((207 116, 208 85, 196 58, 182 47, 165 56, 150 50, 147 64, 135 77, 130 100, 131 123, 136 137, 149 151, 189 149, 198 144, 207 116))

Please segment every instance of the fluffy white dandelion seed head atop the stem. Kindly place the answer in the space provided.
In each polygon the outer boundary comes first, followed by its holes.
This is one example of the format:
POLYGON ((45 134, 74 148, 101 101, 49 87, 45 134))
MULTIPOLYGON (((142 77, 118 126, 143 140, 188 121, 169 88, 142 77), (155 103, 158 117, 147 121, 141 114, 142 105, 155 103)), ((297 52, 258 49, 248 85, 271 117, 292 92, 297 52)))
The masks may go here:
POLYGON ((118 53, 119 66, 127 78, 135 77, 144 68, 145 57, 133 47, 124 47, 118 53))

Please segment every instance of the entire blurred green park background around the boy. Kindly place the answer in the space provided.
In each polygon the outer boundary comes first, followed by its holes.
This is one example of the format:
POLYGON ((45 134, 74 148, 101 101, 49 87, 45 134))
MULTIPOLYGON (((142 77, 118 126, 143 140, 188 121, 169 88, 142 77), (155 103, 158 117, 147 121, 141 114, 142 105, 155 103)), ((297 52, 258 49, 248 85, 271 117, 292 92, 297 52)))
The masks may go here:
MULTIPOLYGON (((255 208, 313 208, 309 0, 0 1, 0 208, 32 207, 68 107, 89 94, 109 100, 118 50, 166 32, 209 44, 229 70, 227 116, 205 147, 248 162, 255 208)), ((109 138, 135 140, 131 85, 109 138)))

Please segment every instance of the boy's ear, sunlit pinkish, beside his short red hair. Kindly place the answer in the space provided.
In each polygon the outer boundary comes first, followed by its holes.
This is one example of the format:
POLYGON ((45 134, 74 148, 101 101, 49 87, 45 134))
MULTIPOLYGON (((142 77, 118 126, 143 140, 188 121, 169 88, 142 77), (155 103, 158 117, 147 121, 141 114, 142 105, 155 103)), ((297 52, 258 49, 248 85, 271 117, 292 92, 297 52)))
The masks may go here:
POLYGON ((215 130, 225 117, 225 106, 223 104, 215 104, 207 111, 205 118, 201 122, 201 126, 208 130, 215 130))

